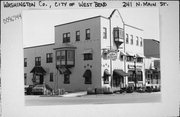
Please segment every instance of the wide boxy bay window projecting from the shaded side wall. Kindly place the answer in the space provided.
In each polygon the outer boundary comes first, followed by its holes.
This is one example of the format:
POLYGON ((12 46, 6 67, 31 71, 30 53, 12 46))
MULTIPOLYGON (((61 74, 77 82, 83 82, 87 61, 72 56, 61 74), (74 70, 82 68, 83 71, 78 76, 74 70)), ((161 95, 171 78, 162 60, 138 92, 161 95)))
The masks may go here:
POLYGON ((56 51, 56 66, 74 66, 74 64, 75 64, 74 50, 56 51))

